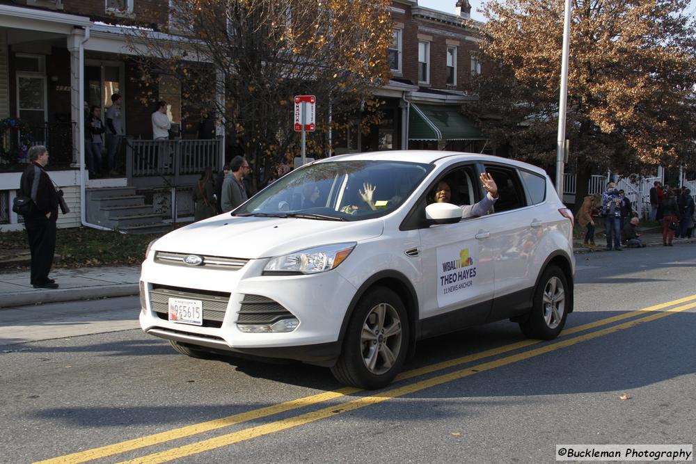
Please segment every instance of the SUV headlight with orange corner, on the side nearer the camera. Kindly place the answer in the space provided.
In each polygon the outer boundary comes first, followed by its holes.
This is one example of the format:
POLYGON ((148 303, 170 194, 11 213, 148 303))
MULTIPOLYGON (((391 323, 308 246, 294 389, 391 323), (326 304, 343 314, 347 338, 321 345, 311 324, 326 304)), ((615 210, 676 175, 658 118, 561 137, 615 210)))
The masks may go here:
POLYGON ((300 250, 290 255, 276 256, 264 267, 264 275, 316 274, 331 271, 341 264, 356 243, 334 243, 300 250))

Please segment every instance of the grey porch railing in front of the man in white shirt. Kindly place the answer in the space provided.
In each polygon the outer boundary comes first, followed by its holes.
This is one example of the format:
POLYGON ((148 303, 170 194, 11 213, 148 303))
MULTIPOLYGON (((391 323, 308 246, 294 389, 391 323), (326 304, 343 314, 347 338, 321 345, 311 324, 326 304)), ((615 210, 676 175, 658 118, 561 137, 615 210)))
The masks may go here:
POLYGON ((222 139, 131 140, 126 143, 126 175, 166 177, 173 185, 181 175, 200 174, 207 166, 222 168, 222 139))

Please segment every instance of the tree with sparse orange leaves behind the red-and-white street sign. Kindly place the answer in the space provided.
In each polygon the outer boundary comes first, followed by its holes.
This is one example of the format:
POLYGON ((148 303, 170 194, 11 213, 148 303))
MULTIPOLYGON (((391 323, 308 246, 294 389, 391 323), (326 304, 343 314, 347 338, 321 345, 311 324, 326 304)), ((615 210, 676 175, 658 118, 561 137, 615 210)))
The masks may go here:
POLYGON ((389 5, 173 0, 168 26, 187 39, 134 40, 134 48, 148 49, 140 56, 145 81, 175 75, 189 100, 224 116, 228 136, 242 145, 258 173, 277 163, 295 140, 294 95, 317 95, 318 131, 310 137, 309 154, 330 150, 329 127, 340 125, 345 113, 363 107, 379 115, 372 90, 388 79, 389 5), (224 99, 216 99, 216 86, 224 99))

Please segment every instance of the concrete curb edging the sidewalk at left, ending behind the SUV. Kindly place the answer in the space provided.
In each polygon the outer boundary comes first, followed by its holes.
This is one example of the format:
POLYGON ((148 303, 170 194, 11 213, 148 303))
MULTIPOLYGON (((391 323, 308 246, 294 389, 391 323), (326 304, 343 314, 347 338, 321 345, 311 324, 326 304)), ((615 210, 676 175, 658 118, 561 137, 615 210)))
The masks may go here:
POLYGON ((4 294, 2 307, 8 308, 40 303, 64 303, 66 301, 92 300, 95 298, 115 298, 117 296, 133 296, 139 294, 139 292, 138 284, 107 285, 104 287, 77 289, 33 289, 33 291, 4 294))

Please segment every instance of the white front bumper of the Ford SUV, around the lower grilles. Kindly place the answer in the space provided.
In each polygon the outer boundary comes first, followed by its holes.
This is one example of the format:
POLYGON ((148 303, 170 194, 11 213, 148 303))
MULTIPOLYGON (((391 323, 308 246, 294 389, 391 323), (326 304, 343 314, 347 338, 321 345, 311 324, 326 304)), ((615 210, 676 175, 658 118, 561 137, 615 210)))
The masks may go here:
POLYGON ((340 329, 355 287, 335 271, 315 275, 261 275, 267 262, 267 259, 252 259, 242 269, 230 271, 171 266, 148 257, 141 273, 144 304, 141 328, 150 335, 191 346, 331 365, 340 353, 340 329), (218 320, 211 323, 205 319, 204 305, 203 326, 168 321, 161 303, 155 307, 157 303, 152 301, 158 287, 213 295, 218 320), (299 320, 299 326, 289 333, 242 332, 237 321, 242 301, 248 295, 275 301, 299 320))

